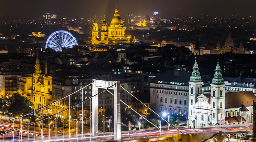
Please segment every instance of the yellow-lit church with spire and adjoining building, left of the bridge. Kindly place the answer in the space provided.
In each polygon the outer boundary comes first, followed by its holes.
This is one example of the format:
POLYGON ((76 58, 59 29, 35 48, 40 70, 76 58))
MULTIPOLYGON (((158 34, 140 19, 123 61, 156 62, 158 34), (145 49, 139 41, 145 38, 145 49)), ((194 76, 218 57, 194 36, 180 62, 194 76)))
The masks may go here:
MULTIPOLYGON (((33 74, 18 76, 18 91, 22 96, 28 97, 35 109, 52 103, 52 76, 41 74, 38 57, 35 61, 33 74)), ((44 108, 43 114, 52 114, 52 108, 44 108)))

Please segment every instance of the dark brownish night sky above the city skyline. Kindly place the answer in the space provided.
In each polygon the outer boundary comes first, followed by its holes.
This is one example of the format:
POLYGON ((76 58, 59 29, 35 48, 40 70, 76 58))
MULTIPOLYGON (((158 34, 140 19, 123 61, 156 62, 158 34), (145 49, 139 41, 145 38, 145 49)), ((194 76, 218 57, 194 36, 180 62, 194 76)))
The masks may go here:
POLYGON ((0 17, 10 19, 39 19, 45 13, 62 17, 92 17, 106 15, 111 19, 118 4, 121 17, 134 14, 152 16, 158 11, 171 17, 181 9, 181 15, 224 15, 255 16, 256 0, 1 0, 0 17))

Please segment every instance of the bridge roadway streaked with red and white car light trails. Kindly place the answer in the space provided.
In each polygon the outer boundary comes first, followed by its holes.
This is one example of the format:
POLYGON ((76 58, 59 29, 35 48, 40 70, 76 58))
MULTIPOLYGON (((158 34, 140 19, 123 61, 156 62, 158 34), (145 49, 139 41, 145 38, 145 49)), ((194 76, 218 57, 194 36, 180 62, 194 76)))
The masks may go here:
MULTIPOLYGON (((245 126, 245 125, 243 125, 245 126)), ((196 134, 196 133, 209 133, 209 132, 219 132, 219 131, 223 131, 226 134, 228 133, 241 133, 241 132, 252 132, 252 127, 241 127, 241 125, 237 125, 237 126, 228 126, 225 128, 221 128, 221 127, 209 127, 209 128, 195 128, 195 129, 187 129, 187 128, 180 128, 179 129, 181 132, 183 133, 192 133, 192 134, 196 134)), ((45 133, 46 131, 44 131, 45 133)), ((159 129, 153 129, 153 130, 149 130, 149 131, 145 131, 145 132, 134 132, 134 131, 130 131, 131 133, 129 134, 129 131, 125 131, 122 132, 121 134, 121 140, 132 140, 132 139, 145 139, 145 138, 159 138, 159 137, 165 137, 165 136, 170 136, 171 134, 180 134, 180 132, 178 132, 178 130, 174 129, 174 128, 170 128, 170 130, 167 130, 167 128, 162 129, 161 131, 159 131, 159 129), (160 135, 161 133, 161 135, 160 135)), ((113 133, 113 132, 112 132, 113 133)), ((108 132, 106 132, 105 134, 108 134, 108 132)), ((10 136, 10 135, 9 135, 10 136)), ((3 138, 1 138, 3 139, 3 138)), ((24 139, 24 138, 23 138, 24 139)), ((18 140, 18 139, 16 139, 18 140)), ((27 138, 24 139, 24 141, 27 140, 27 138)), ((55 133, 51 132, 51 137, 49 140, 49 137, 44 137, 42 141, 54 141, 54 142, 58 142, 58 141, 65 141, 65 142, 75 142, 75 141, 111 141, 114 140, 114 135, 103 135, 100 134, 97 137, 96 136, 90 136, 87 134, 78 134, 77 138, 76 138, 76 134, 75 135, 71 135, 71 137, 69 138, 68 135, 56 135, 55 133), (55 139, 55 137, 57 137, 57 139, 55 139)), ((10 142, 10 138, 5 137, 5 142, 10 142)), ((30 138, 30 141, 34 141, 34 138, 32 136, 32 138, 30 138)), ((35 137, 35 141, 41 141, 40 137, 35 137)))

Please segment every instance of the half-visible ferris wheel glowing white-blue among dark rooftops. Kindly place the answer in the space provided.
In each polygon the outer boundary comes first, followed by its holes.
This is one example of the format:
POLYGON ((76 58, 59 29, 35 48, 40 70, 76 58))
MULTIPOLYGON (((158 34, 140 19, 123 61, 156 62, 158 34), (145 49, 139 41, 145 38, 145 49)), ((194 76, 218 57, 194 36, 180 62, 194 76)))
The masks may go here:
POLYGON ((52 33, 45 44, 45 48, 62 51, 62 48, 72 48, 73 45, 78 45, 76 38, 67 31, 56 31, 52 33))

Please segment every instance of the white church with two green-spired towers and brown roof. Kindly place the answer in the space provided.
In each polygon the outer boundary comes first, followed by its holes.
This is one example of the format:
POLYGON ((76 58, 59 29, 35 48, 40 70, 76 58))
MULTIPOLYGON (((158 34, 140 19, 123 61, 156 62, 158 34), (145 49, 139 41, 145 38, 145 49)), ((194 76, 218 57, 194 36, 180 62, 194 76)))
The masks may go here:
POLYGON ((225 93, 225 84, 218 62, 211 82, 211 94, 203 94, 202 85, 203 82, 195 58, 189 81, 187 126, 199 128, 241 124, 241 122, 252 123, 252 102, 256 100, 254 93, 252 91, 225 93))

